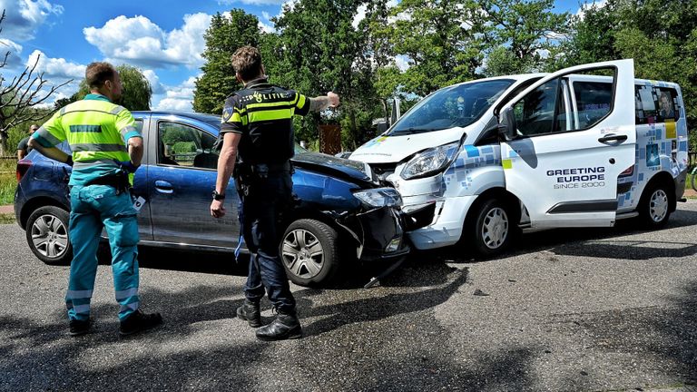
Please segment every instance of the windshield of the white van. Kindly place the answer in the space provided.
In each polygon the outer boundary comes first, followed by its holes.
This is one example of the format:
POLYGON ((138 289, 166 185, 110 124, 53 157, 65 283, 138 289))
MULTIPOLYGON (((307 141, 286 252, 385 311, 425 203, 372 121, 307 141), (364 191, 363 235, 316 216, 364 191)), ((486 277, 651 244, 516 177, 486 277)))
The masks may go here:
POLYGON ((417 103, 394 127, 390 135, 440 131, 465 127, 513 84, 511 79, 457 84, 442 88, 417 103))

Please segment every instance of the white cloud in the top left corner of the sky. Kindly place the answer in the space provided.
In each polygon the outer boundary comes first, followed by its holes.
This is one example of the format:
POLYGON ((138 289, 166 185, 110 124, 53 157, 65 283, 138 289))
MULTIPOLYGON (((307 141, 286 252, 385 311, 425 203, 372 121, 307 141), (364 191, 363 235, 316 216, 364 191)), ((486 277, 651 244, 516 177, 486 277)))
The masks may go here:
POLYGON ((54 5, 46 0, 0 0, 0 9, 5 10, 3 35, 20 42, 34 38, 36 29, 50 15, 63 13, 62 5, 54 5))

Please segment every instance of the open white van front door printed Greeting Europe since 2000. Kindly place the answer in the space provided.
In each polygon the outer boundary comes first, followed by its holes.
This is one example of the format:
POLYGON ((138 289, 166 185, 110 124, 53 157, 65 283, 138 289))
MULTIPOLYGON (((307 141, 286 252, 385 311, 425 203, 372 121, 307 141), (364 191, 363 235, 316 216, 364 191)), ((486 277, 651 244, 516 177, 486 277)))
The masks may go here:
POLYGON ((506 189, 523 201, 533 227, 614 225, 617 177, 634 162, 633 81, 632 60, 575 66, 501 109, 511 108, 517 132, 501 143, 506 189), (579 105, 570 80, 603 81, 612 91, 579 105))

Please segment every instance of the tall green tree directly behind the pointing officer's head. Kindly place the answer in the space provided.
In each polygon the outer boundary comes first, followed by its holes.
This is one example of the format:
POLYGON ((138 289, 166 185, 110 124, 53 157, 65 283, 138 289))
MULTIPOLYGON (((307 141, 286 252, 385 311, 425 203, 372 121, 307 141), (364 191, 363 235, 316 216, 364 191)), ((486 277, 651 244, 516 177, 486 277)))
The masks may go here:
POLYGON ((241 9, 227 15, 213 15, 211 26, 204 35, 206 49, 201 56, 206 64, 196 80, 193 92, 193 110, 199 113, 222 113, 225 98, 241 88, 235 79, 231 55, 244 45, 260 43, 259 19, 241 9))

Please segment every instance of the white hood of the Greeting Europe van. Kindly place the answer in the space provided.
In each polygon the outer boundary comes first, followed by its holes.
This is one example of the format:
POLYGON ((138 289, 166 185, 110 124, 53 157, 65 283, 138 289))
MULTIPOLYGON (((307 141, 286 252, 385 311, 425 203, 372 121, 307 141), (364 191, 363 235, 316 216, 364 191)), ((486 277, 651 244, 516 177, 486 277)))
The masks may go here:
POLYGON ((402 162, 407 157, 427 148, 437 147, 460 140, 466 128, 448 128, 424 133, 382 134, 358 147, 350 156, 351 160, 366 163, 402 162))

